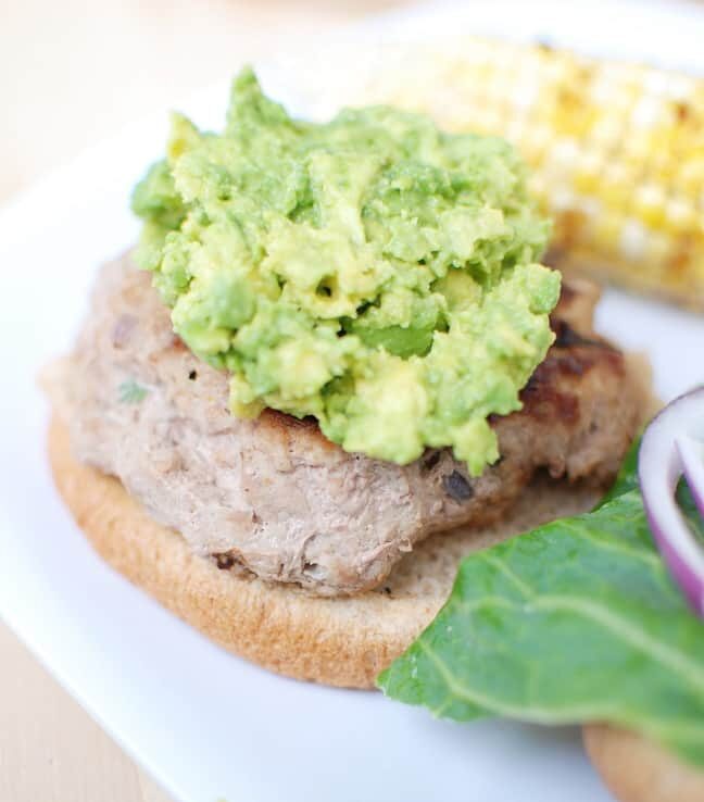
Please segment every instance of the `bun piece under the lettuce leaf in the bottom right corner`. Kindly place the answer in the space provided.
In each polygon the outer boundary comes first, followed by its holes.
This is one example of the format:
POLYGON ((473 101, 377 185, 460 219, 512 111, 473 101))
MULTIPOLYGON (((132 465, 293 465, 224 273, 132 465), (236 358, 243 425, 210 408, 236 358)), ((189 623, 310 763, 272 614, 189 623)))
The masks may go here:
POLYGON ((704 772, 633 732, 607 725, 583 729, 584 748, 620 802, 702 802, 704 772))

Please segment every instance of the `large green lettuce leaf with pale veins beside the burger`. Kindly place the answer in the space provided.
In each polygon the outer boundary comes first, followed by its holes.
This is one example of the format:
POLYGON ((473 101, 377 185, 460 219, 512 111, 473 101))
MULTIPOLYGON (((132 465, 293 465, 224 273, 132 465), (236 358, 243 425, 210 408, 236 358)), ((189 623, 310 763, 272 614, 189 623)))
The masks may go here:
POLYGON ((379 685, 457 720, 611 722, 704 766, 704 623, 659 559, 638 490, 466 557, 379 685))

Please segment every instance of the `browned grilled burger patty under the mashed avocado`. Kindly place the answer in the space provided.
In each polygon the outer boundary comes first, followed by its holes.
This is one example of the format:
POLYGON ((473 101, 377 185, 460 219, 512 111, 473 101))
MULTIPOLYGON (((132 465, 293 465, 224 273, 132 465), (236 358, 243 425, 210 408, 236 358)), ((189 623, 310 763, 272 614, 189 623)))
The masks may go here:
POLYGON ((499 518, 538 471, 605 485, 640 419, 624 355, 592 330, 598 291, 563 288, 556 340, 492 421, 501 459, 479 478, 448 450, 410 465, 350 454, 314 421, 228 411, 227 375, 198 360, 130 255, 104 266, 50 389, 75 455, 120 478, 158 522, 219 567, 325 596, 384 580, 433 531, 499 518))

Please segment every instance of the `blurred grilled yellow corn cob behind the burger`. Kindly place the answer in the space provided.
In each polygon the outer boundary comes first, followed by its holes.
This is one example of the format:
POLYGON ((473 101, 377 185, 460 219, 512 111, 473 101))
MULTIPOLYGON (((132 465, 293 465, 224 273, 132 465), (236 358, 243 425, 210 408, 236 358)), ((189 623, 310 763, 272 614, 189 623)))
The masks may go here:
POLYGON ((704 78, 478 38, 385 64, 355 100, 517 146, 554 263, 704 310, 704 78))

